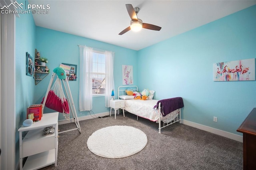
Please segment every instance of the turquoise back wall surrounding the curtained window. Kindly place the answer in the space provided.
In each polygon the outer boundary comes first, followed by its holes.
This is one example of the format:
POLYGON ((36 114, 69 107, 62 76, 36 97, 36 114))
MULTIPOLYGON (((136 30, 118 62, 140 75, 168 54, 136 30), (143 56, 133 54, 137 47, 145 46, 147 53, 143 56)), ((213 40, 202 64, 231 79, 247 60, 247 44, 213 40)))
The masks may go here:
MULTIPOLYGON (((115 52, 114 58, 114 81, 115 91, 118 86, 122 85, 122 65, 133 65, 134 68, 134 83, 137 84, 137 51, 112 45, 109 43, 99 42, 80 36, 74 36, 55 30, 50 30, 42 27, 36 27, 36 48, 40 51, 41 57, 48 58, 47 66, 50 69, 50 75, 44 78, 38 85, 35 91, 35 103, 40 103, 44 97, 52 70, 59 67, 60 63, 70 63, 78 66, 79 77, 79 48, 78 45, 86 45, 96 49, 102 49, 115 52)), ((70 90, 74 99, 78 117, 89 115, 88 111, 78 111, 78 90, 79 79, 70 81, 70 90)), ((117 94, 117 93, 116 93, 117 94)), ((92 111, 97 113, 109 112, 110 109, 105 107, 104 97, 93 97, 92 111)), ((45 109, 44 113, 51 112, 50 109, 45 109)), ((62 117, 59 117, 62 119, 62 117)))

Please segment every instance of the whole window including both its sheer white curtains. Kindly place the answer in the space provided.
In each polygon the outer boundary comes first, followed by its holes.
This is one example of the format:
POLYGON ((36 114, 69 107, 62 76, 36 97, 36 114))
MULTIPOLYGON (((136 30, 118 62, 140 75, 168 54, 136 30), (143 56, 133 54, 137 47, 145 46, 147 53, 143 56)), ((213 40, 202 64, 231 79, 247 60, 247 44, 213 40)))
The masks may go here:
POLYGON ((78 46, 79 110, 92 110, 92 96, 99 95, 105 96, 105 107, 110 107, 111 92, 114 89, 114 52, 78 46))

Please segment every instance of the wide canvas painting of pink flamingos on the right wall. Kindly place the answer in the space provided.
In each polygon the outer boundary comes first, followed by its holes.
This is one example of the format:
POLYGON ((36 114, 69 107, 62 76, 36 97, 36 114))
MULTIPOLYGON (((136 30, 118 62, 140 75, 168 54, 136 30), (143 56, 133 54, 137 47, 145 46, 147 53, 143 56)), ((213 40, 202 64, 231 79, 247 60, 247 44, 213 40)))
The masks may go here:
POLYGON ((213 64, 214 81, 255 80, 255 58, 213 64))

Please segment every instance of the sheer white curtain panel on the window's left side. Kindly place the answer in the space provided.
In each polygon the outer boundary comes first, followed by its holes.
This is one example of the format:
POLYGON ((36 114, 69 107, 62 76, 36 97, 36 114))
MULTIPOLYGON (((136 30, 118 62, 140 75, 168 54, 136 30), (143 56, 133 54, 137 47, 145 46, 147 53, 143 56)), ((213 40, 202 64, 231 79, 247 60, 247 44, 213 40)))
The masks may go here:
POLYGON ((92 47, 79 46, 79 110, 92 110, 92 47))

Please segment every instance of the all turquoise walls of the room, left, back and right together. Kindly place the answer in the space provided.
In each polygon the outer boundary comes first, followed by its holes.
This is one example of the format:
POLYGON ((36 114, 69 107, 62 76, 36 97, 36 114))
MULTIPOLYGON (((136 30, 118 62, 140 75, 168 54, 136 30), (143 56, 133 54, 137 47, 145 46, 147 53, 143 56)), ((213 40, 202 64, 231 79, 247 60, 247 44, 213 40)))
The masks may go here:
MULTIPOLYGON (((18 1, 25 2, 25 1, 18 1)), ((25 4, 25 3, 24 3, 25 4)), ((214 82, 213 63, 255 58, 256 6, 216 20, 140 51, 36 27, 32 15, 16 18, 16 127, 26 119, 26 108, 40 103, 46 93, 50 75, 60 63, 78 65, 77 45, 115 52, 115 91, 122 85, 122 65, 133 65, 134 84, 140 90, 154 89, 155 99, 180 96, 184 99, 182 119, 240 134, 236 129, 255 107, 256 82, 214 82), (48 58, 50 75, 35 86, 26 75, 26 52, 34 58, 37 48, 48 58), (137 65, 138 63, 138 65, 137 65), (140 66, 144 63, 144 67, 140 66), (218 122, 213 122, 213 117, 218 122)), ((78 72, 79 74, 79 72, 78 72)), ((70 82, 78 111, 78 81, 70 82)), ((50 112, 50 110, 48 110, 50 112)), ((94 113, 109 111, 104 97, 93 98, 94 113)), ((78 117, 89 115, 79 112, 78 117)), ((241 134, 240 134, 241 135, 241 134)), ((18 131, 16 162, 18 162, 18 131)))

